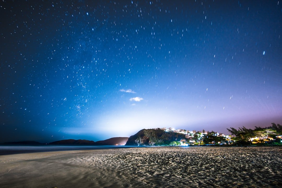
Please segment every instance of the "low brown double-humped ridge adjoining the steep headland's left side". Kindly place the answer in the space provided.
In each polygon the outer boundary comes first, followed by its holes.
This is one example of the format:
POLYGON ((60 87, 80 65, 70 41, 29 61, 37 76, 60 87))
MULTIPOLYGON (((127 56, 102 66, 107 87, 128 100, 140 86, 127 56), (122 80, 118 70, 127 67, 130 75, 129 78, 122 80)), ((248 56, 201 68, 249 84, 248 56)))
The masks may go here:
POLYGON ((71 144, 71 145, 124 145, 126 141, 128 140, 128 137, 114 137, 109 138, 107 140, 101 140, 101 141, 90 141, 90 140, 59 140, 50 142, 49 144, 71 144))

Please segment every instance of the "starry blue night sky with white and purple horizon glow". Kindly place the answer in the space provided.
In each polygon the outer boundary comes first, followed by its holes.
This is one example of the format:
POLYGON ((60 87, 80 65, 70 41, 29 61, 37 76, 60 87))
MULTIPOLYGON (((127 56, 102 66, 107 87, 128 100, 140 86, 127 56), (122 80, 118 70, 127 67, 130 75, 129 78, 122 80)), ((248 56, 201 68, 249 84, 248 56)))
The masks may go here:
POLYGON ((0 142, 282 123, 282 2, 2 1, 0 142))

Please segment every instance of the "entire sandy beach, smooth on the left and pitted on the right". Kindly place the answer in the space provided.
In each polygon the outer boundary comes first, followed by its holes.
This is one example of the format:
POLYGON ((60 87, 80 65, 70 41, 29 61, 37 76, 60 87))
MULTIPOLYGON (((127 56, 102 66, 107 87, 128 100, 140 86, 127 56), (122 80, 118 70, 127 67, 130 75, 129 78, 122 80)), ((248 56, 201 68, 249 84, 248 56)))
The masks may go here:
POLYGON ((0 187, 280 187, 282 147, 152 147, 0 156, 0 187))

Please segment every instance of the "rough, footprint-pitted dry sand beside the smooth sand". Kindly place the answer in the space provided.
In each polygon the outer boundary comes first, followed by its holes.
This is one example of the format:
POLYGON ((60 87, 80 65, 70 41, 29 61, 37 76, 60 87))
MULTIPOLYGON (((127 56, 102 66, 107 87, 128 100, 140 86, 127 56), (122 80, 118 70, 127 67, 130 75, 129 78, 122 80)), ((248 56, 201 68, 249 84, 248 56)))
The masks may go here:
POLYGON ((93 165, 123 178, 131 187, 277 187, 281 148, 128 148, 93 165), (105 165, 107 164, 107 165, 105 165))

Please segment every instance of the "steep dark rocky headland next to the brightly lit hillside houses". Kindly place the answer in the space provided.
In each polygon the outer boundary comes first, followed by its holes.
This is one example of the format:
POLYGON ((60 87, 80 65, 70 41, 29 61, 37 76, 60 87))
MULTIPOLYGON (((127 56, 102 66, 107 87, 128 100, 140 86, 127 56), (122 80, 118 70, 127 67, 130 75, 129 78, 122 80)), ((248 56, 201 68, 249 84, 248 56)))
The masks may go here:
POLYGON ((185 139, 185 134, 166 132, 160 129, 142 129, 135 135, 130 136, 125 145, 169 145, 169 143, 181 139, 185 139))

